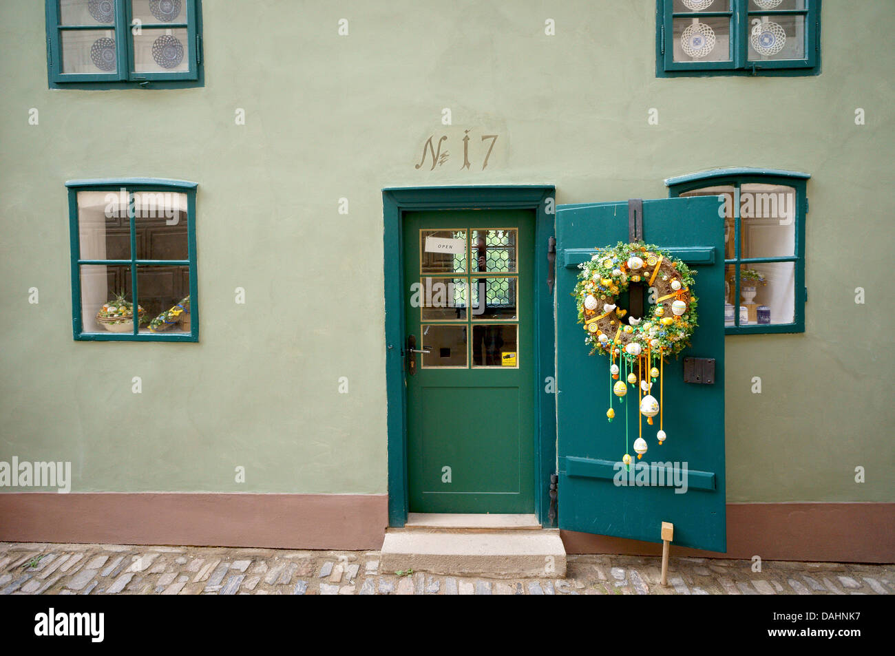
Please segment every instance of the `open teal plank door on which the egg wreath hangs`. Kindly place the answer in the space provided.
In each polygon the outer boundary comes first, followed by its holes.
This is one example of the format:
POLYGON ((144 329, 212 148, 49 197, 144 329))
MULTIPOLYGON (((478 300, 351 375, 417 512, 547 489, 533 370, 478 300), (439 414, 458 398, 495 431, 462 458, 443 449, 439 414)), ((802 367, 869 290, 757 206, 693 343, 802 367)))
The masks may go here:
MULTIPOLYGON (((626 203, 558 206, 557 384, 559 527, 646 541, 661 540, 661 523, 674 524, 674 543, 725 551, 724 498, 724 225, 714 197, 644 201, 644 241, 667 249, 695 270, 699 327, 691 346, 664 367, 664 430, 644 421, 648 451, 639 481, 617 476, 626 452, 624 410, 630 443, 638 435, 636 393, 615 403, 609 423, 609 359, 589 355, 583 326, 576 323, 577 265, 595 248, 628 242, 626 203), (713 358, 712 384, 683 380, 686 357, 713 358), (631 398, 633 396, 633 399, 631 398), (634 401, 632 404, 631 401, 634 401), (681 482, 661 486, 658 475, 677 467, 681 482), (685 469, 686 466, 686 469, 685 469), (644 480, 647 484, 644 483, 644 480), (686 488, 683 484, 686 481, 686 488), (684 491, 686 490, 686 491, 684 491)), ((648 292, 644 294, 648 298, 648 292)), ((619 307, 625 307, 624 298, 619 307)), ((634 455, 633 450, 629 451, 634 455)), ((635 460, 635 463, 638 462, 635 460)), ((633 469, 633 468, 632 468, 633 469)), ((667 482, 667 481, 666 481, 667 482)))

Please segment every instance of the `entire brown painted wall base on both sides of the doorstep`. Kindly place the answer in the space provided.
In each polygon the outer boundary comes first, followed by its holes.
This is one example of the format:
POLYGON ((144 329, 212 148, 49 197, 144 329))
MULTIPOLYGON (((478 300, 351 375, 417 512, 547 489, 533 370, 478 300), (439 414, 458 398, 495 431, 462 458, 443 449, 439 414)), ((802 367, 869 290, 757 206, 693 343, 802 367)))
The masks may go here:
MULTIPOLYGON (((672 555, 895 562, 895 503, 729 504, 727 520, 727 553, 672 555)), ((0 494, 0 541, 377 550, 387 525, 384 494, 0 494)), ((661 554, 652 542, 561 535, 568 553, 661 554)))

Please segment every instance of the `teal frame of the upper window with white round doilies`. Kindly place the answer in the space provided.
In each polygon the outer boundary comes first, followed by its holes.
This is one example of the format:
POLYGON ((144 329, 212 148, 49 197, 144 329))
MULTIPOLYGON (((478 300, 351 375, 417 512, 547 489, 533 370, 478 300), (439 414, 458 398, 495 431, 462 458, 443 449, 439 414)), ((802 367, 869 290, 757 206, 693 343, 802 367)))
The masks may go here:
POLYGON ((806 9, 769 9, 754 11, 749 0, 730 0, 727 12, 674 12, 674 0, 656 0, 656 77, 703 75, 819 75, 821 72, 821 0, 805 0, 806 9), (750 60, 751 21, 757 16, 805 15, 805 57, 802 59, 750 60), (675 18, 730 18, 730 60, 727 62, 674 61, 675 18))

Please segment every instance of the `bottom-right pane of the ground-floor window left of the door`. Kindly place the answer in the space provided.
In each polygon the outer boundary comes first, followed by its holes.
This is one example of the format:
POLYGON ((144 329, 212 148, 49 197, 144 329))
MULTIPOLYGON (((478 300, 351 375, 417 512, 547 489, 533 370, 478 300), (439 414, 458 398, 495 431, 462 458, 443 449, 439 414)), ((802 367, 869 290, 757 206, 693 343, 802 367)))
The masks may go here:
POLYGON ((137 297, 148 324, 141 333, 190 332, 189 267, 137 267, 137 297))

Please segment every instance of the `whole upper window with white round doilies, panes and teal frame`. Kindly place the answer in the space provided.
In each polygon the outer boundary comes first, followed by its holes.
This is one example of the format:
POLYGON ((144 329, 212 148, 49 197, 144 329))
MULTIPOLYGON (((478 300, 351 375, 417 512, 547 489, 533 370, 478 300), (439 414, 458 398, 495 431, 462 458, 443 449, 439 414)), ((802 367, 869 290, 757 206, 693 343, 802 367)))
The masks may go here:
POLYGON ((656 74, 816 75, 821 0, 657 0, 656 74))

